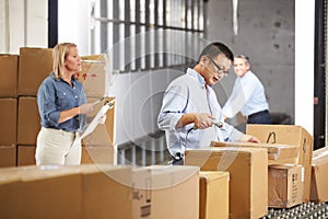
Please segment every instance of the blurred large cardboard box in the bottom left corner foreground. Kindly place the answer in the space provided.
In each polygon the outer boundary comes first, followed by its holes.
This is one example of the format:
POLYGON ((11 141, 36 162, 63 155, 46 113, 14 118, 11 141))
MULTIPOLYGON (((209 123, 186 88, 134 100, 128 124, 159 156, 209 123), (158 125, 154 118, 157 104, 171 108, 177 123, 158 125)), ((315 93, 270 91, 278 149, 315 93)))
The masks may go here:
POLYGON ((0 169, 0 218, 81 218, 82 180, 61 168, 0 169))

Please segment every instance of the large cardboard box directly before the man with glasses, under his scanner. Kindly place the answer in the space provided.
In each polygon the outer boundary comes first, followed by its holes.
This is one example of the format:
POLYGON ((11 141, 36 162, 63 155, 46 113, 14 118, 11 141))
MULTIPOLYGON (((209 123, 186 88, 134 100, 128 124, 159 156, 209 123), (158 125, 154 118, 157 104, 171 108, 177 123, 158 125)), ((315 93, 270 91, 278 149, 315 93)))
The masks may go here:
POLYGON ((262 148, 202 148, 185 151, 185 164, 230 172, 230 218, 260 218, 268 207, 268 152, 262 148))

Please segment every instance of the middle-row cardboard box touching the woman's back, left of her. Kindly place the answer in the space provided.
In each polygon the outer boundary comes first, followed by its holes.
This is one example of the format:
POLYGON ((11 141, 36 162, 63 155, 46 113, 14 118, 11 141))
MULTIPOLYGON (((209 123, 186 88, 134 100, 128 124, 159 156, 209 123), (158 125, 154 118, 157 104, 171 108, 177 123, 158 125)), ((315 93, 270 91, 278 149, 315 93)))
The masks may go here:
POLYGON ((36 146, 40 117, 36 97, 19 97, 17 145, 36 146))

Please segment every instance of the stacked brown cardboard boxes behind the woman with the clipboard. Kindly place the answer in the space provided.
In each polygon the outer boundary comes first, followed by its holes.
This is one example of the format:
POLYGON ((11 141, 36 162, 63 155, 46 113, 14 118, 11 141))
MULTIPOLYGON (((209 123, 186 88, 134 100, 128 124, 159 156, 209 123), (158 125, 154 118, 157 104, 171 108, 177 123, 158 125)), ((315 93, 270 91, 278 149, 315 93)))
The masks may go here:
MULTIPOLYGON (((99 67, 97 64, 83 64, 85 69, 80 76, 84 77, 79 77, 79 80, 85 87, 90 102, 105 94, 104 64, 97 69, 94 68, 99 67)), ((40 129, 36 95, 40 83, 52 70, 52 49, 22 47, 20 55, 0 55, 0 166, 35 164, 36 138, 40 129)), ((83 163, 94 162, 98 157, 104 162, 115 162, 115 99, 109 101, 114 107, 107 112, 106 123, 96 131, 105 136, 101 143, 107 147, 94 148, 98 146, 98 142, 93 143, 96 138, 89 139, 90 148, 83 148, 83 163)))

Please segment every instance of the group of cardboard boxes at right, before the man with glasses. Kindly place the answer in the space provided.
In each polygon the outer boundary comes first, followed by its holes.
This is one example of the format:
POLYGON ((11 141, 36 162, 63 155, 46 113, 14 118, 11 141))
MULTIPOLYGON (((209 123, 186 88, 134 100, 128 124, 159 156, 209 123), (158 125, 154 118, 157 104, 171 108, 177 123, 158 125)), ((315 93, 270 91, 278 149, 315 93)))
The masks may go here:
POLYGON ((300 126, 248 125, 261 142, 212 142, 186 151, 185 164, 230 173, 230 218, 260 218, 268 207, 309 201, 313 137, 300 126))

